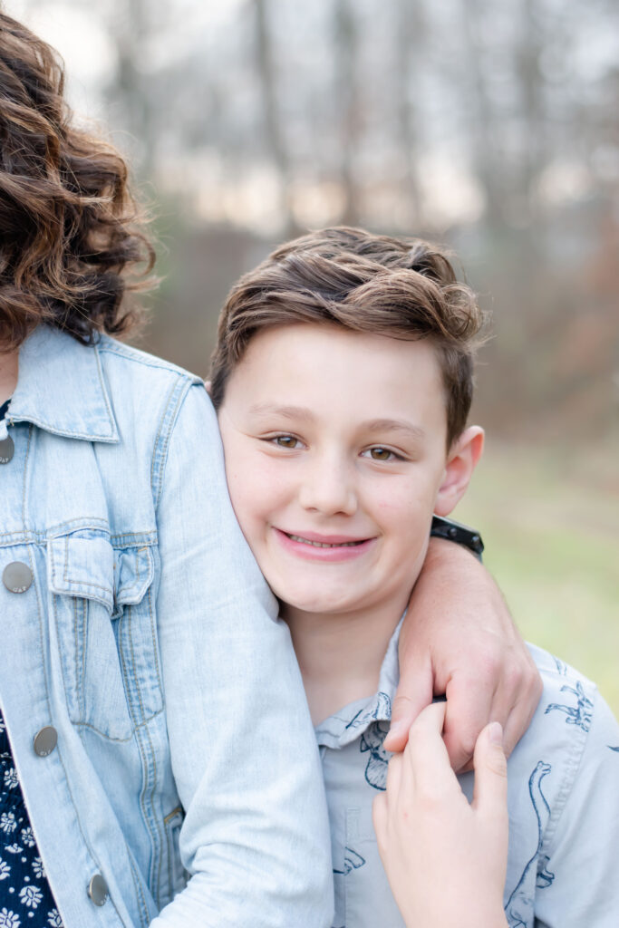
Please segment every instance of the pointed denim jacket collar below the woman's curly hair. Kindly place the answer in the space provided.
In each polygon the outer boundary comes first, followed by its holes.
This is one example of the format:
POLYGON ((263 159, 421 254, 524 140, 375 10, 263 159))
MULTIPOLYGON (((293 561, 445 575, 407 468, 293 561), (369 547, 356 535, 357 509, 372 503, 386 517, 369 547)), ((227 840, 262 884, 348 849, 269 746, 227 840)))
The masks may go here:
POLYGON ((39 325, 19 349, 19 379, 6 416, 67 438, 118 442, 97 345, 39 325))

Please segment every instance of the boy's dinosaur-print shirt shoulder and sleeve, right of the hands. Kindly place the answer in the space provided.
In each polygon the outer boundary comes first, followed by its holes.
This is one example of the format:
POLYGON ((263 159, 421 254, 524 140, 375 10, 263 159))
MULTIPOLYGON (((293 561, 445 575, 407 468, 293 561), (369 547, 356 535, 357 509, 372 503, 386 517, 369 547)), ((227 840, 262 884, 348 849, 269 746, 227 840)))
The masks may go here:
POLYGON ((606 928, 616 924, 617 868, 609 858, 593 876, 589 865, 619 825, 619 726, 594 683, 529 648, 544 689, 508 763, 509 928, 534 915, 544 924, 606 928))

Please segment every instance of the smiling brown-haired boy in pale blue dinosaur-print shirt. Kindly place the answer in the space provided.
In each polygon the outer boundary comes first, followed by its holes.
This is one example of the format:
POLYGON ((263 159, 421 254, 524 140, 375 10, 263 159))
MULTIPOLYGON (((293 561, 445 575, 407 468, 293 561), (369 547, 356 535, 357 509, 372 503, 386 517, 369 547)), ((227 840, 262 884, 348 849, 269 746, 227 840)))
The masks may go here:
MULTIPOLYGON (((441 251, 346 228, 275 251, 241 278, 220 320, 212 396, 227 481, 303 673, 336 928, 404 924, 372 800, 386 787, 399 622, 432 512, 451 512, 482 452, 482 430, 466 427, 480 325, 441 251)), ((619 729, 592 684, 532 651, 545 690, 509 760, 505 918, 610 928, 619 729)), ((471 775, 460 784, 471 796, 471 775)))

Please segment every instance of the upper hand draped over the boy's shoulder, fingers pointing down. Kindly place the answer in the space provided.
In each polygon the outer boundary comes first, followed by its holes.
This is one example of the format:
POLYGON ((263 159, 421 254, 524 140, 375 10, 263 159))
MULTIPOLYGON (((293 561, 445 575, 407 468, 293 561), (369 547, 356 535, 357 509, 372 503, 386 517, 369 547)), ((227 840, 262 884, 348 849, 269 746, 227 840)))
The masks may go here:
POLYGON ((402 751, 432 694, 445 694, 445 745, 455 770, 471 761, 478 734, 493 719, 503 726, 509 756, 541 692, 495 581, 470 551, 431 538, 400 635, 400 685, 386 750, 402 751))

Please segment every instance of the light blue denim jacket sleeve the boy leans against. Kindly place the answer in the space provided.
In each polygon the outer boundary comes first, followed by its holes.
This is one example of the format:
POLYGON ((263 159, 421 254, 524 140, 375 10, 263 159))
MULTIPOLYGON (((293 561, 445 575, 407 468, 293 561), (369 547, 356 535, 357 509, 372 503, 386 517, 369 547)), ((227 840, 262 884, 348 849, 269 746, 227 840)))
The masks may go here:
POLYGON ((175 419, 158 513, 161 665, 190 880, 151 924, 329 926, 329 825, 301 675, 234 517, 201 386, 175 419))

